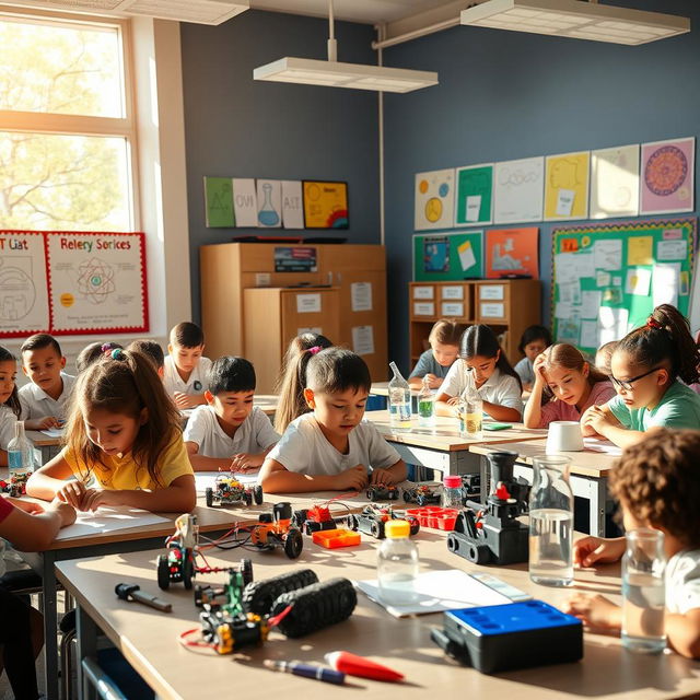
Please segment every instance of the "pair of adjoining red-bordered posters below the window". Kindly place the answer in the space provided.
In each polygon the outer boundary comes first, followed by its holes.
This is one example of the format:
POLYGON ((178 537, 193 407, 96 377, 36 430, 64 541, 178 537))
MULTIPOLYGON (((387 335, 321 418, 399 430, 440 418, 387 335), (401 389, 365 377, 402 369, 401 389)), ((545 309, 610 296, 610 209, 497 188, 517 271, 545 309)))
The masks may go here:
POLYGON ((142 233, 0 231, 0 337, 148 329, 142 233))

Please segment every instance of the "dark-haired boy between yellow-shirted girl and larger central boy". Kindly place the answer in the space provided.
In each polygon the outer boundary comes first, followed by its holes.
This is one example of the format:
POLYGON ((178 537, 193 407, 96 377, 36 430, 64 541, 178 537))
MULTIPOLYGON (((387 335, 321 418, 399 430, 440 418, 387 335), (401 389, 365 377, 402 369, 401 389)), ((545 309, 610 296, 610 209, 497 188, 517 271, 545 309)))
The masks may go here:
POLYGON ((185 447, 195 471, 259 468, 280 436, 270 419, 253 406, 253 365, 243 358, 219 358, 208 384, 209 406, 196 408, 185 428, 185 447))

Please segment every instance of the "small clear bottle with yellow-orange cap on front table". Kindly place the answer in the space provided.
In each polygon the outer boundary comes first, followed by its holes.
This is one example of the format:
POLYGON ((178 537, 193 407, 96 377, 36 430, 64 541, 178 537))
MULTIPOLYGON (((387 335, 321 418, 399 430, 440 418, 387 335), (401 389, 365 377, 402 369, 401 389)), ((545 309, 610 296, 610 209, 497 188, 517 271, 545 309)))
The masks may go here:
POLYGON ((377 553, 380 597, 386 605, 406 605, 418 600, 418 548, 410 540, 408 521, 392 520, 384 526, 386 539, 377 553))

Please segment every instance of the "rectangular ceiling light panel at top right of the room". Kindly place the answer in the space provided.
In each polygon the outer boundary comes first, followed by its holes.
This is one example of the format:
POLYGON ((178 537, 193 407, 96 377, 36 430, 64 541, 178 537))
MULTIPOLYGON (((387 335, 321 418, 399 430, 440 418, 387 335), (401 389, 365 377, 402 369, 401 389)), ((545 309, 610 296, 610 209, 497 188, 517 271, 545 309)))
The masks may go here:
POLYGON ((462 24, 637 46, 690 32, 675 14, 583 0, 486 0, 462 11, 462 24))

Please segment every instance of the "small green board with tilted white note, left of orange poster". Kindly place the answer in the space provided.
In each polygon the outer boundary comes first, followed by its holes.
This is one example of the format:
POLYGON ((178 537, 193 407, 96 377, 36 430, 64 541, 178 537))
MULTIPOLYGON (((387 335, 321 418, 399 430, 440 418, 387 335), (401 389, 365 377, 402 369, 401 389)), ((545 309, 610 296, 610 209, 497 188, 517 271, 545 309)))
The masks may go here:
POLYGON ((413 281, 454 282, 483 277, 483 231, 413 236, 413 281))

